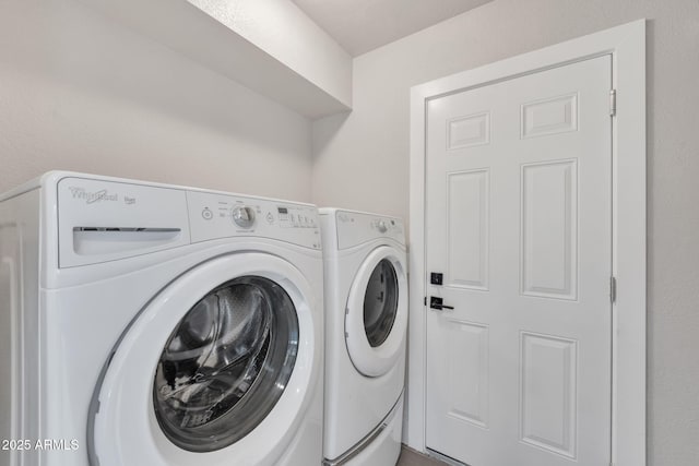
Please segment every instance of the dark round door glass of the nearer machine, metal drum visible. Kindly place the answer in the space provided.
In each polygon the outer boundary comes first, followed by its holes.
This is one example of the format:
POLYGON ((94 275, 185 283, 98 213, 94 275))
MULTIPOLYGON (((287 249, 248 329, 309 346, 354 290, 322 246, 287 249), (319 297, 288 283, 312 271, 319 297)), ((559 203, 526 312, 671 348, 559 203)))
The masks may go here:
POLYGON ((204 296, 170 334, 155 372, 158 425, 177 446, 230 445, 272 410, 292 375, 298 319, 276 283, 246 276, 204 296))

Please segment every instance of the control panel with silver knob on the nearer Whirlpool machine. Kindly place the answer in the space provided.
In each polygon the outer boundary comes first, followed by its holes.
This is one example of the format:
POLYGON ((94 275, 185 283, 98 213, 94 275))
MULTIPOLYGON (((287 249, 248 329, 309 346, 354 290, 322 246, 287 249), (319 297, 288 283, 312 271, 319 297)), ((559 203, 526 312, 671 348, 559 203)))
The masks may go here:
POLYGON ((192 242, 257 236, 321 248, 312 205, 199 191, 187 191, 187 204, 192 242))

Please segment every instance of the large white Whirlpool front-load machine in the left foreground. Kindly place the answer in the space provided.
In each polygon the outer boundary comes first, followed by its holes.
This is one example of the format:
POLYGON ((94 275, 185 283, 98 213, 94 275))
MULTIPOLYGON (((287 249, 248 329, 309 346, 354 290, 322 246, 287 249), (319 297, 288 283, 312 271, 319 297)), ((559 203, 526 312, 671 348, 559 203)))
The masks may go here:
POLYGON ((71 172, 0 198, 2 466, 322 459, 312 205, 71 172))

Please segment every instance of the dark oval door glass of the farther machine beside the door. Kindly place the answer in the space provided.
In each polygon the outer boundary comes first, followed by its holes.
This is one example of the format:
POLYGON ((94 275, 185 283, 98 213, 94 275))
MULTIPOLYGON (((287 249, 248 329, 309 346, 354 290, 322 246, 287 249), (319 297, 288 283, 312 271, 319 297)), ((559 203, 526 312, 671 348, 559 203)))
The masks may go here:
POLYGON ((391 261, 382 259, 371 272, 364 295, 364 330, 372 348, 388 338, 398 311, 398 276, 391 261))

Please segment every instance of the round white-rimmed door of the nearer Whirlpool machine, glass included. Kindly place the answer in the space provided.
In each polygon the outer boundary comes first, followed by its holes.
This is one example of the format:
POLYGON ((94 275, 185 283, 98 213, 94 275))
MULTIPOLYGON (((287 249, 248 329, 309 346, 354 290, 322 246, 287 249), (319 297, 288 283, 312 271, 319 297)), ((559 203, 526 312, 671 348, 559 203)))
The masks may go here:
POLYGON ((317 396, 311 296, 296 267, 258 252, 179 276, 106 366, 91 455, 100 466, 275 464, 317 396))

